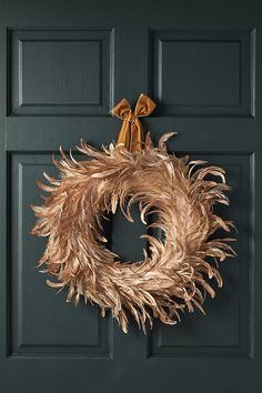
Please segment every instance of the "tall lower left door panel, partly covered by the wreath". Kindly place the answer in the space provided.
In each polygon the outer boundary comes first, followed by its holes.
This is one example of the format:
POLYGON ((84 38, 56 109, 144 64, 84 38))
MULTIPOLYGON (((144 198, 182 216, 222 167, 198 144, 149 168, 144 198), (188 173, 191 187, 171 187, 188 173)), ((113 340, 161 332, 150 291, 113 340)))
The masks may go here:
POLYGON ((30 204, 41 203, 36 179, 43 170, 54 174, 51 154, 10 155, 8 355, 111 359, 110 318, 83 300, 78 308, 67 303, 67 290, 57 294, 36 269, 46 240, 29 234, 36 221, 30 204))

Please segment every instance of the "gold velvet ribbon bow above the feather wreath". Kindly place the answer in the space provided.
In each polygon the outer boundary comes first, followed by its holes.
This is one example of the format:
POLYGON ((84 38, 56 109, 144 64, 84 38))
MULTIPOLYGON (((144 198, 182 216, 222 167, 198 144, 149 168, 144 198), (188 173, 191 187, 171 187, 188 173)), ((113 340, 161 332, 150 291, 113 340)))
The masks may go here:
POLYGON ((149 115, 155 103, 145 94, 140 94, 132 111, 128 100, 123 99, 113 109, 112 113, 123 120, 117 143, 123 143, 131 152, 141 152, 143 143, 143 129, 139 118, 149 115))

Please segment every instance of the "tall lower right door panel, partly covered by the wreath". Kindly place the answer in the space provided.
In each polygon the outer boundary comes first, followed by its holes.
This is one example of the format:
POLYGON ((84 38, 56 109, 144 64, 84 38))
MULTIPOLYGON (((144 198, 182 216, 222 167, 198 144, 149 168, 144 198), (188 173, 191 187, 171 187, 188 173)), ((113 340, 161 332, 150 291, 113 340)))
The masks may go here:
POLYGON ((223 288, 218 289, 213 283, 216 296, 206 299, 206 315, 196 310, 181 314, 181 322, 175 326, 154 323, 148 357, 252 357, 254 155, 195 153, 190 157, 208 160, 226 171, 228 184, 232 187, 231 205, 218 209, 222 216, 236 224, 238 241, 233 248, 238 258, 220 263, 223 288))

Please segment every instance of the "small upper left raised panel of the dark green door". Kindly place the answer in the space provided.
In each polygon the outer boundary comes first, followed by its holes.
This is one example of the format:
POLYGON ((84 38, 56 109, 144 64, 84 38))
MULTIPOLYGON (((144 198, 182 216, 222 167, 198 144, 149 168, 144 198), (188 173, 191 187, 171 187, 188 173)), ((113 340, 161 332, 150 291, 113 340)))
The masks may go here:
POLYGON ((112 29, 9 29, 9 115, 109 115, 112 29))

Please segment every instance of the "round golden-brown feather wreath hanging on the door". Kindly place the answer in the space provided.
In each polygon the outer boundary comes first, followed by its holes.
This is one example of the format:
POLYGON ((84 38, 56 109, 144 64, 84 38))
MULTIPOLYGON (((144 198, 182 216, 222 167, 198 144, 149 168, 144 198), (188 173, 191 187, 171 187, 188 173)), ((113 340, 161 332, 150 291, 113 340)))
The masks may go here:
POLYGON ((218 261, 234 255, 228 244, 233 239, 213 239, 218 229, 230 232, 233 226, 213 212, 215 203, 229 204, 224 171, 169 154, 165 142, 173 134, 165 133, 153 147, 148 133, 140 152, 129 151, 124 143, 97 150, 81 142, 78 150, 89 159, 79 162, 60 148, 61 159, 53 162, 61 177, 44 173, 50 184, 39 187, 50 195, 44 205, 32 206, 38 220, 31 233, 49 238, 39 265, 57 278, 47 283, 68 286, 67 300, 75 304, 81 295, 97 303, 102 316, 111 310, 123 332, 127 310, 144 332, 153 318, 175 324, 183 311, 196 308, 204 313, 206 293, 215 294, 209 281, 222 286, 218 261), (161 229, 163 238, 143 234, 150 253, 144 250, 142 261, 121 263, 105 246, 101 219, 119 205, 132 221, 133 203, 143 223, 157 213, 148 228, 161 229))

